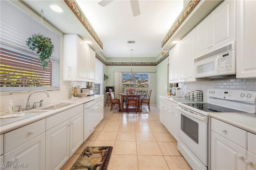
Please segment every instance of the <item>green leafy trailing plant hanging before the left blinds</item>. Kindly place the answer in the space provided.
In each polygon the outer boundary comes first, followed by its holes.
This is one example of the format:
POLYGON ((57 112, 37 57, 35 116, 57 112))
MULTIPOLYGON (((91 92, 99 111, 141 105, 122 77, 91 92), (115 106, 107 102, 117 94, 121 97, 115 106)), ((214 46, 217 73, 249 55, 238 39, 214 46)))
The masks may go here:
POLYGON ((54 45, 52 44, 51 38, 45 37, 40 34, 33 34, 26 41, 26 45, 30 50, 35 51, 39 54, 39 60, 43 62, 41 65, 44 70, 46 70, 54 50, 54 45))

